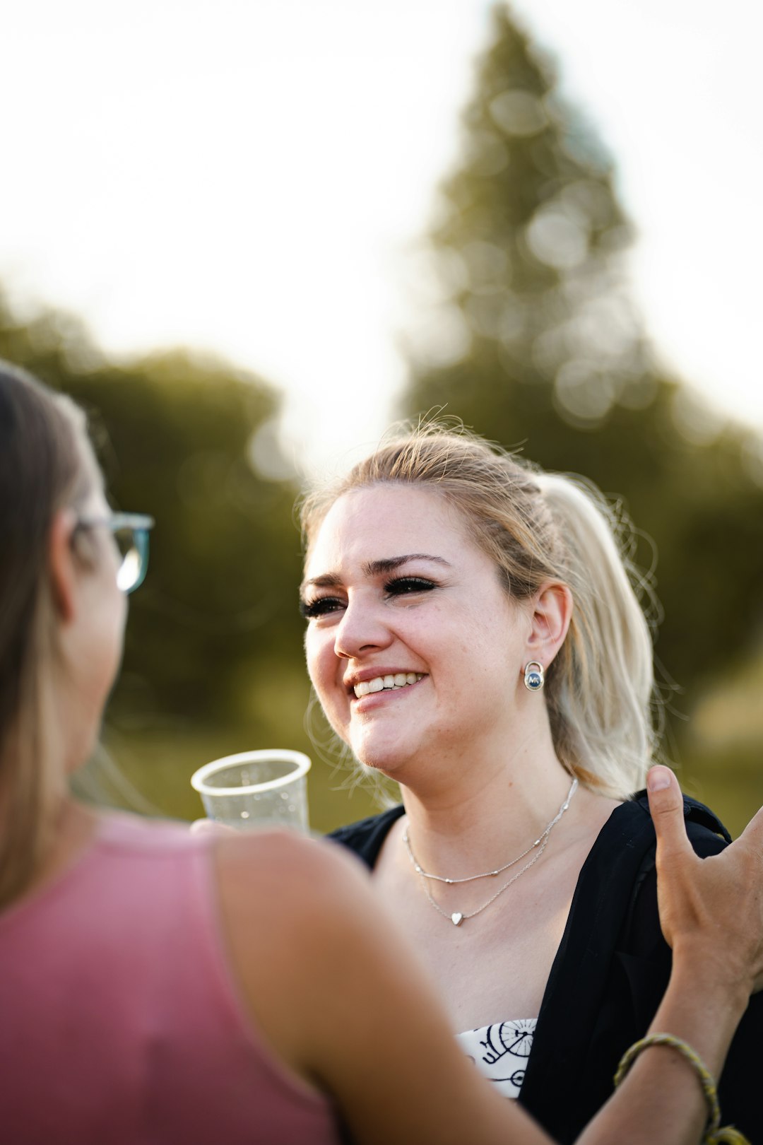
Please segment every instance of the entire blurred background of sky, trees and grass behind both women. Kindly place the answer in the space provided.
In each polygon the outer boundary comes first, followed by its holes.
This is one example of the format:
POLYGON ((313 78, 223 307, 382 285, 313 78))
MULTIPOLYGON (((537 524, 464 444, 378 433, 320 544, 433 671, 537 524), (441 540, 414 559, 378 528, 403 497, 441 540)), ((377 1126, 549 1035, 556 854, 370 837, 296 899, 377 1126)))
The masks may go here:
POLYGON ((0 356, 86 406, 114 504, 157 519, 84 790, 192 819, 196 768, 278 745, 313 759, 317 830, 373 810, 310 700, 294 503, 444 408, 631 515, 665 755, 738 831, 763 803, 754 6, 0 7, 0 356))

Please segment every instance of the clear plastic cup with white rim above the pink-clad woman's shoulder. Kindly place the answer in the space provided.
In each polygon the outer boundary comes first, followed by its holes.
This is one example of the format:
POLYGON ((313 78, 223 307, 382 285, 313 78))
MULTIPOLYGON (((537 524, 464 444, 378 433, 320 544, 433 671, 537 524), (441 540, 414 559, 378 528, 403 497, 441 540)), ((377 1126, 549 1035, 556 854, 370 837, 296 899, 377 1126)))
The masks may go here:
POLYGON ((292 827, 308 823, 310 759, 301 751, 267 748, 205 764, 191 776, 209 819, 226 827, 292 827))

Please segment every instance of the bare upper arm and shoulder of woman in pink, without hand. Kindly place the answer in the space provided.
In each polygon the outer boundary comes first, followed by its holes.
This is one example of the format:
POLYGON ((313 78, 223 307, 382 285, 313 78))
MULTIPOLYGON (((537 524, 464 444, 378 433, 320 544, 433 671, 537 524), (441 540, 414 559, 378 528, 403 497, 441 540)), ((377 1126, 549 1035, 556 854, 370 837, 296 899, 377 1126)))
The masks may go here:
POLYGON ((231 846, 221 891, 249 1009, 276 1055, 334 1097, 358 1145, 548 1145, 458 1049, 357 860, 277 836, 231 846))

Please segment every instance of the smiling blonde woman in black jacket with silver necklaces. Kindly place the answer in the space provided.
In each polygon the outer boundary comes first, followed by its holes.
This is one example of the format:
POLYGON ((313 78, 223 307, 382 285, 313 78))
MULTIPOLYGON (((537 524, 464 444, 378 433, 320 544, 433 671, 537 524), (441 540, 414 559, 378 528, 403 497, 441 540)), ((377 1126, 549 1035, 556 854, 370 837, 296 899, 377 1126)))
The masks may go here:
MULTIPOLYGON (((467 1056, 572 1140, 670 968, 636 795, 652 646, 606 511, 428 426, 315 492, 303 524, 310 678, 334 731, 403 792, 335 837, 372 868, 467 1056)), ((697 853, 723 848, 715 816, 685 806, 697 853)), ((757 1139, 753 1009, 722 1088, 757 1139)))

